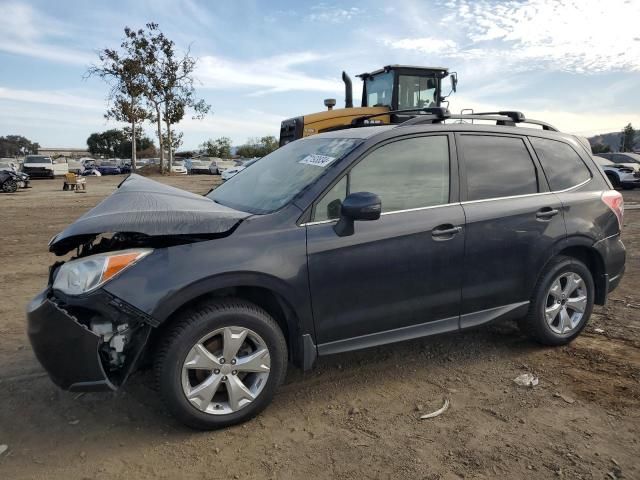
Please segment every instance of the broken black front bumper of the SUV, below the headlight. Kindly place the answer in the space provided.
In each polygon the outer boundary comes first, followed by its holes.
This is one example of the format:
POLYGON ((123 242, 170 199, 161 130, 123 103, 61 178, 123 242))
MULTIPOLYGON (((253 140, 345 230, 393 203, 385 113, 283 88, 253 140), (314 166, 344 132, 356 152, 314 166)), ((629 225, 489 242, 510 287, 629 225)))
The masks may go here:
POLYGON ((27 308, 36 357, 65 390, 117 389, 135 369, 151 333, 143 312, 104 290, 82 299, 47 288, 27 308))

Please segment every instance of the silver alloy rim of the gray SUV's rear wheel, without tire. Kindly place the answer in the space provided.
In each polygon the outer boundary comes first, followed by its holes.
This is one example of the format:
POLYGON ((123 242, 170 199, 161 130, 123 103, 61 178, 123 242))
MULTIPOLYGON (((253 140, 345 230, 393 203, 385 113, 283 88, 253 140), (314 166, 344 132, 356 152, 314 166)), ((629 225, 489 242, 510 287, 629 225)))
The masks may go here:
POLYGON ((587 292, 584 280, 574 272, 562 273, 551 283, 544 315, 552 332, 566 335, 580 325, 588 304, 587 292))

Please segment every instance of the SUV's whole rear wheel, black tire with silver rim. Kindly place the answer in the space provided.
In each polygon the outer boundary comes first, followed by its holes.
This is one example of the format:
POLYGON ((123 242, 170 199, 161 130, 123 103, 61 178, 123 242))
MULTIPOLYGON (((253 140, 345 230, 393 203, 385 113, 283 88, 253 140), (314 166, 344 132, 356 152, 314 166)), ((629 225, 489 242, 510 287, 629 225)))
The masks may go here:
POLYGON ((595 287, 581 261, 559 256, 545 267, 520 327, 543 345, 566 345, 585 327, 593 310, 595 287))

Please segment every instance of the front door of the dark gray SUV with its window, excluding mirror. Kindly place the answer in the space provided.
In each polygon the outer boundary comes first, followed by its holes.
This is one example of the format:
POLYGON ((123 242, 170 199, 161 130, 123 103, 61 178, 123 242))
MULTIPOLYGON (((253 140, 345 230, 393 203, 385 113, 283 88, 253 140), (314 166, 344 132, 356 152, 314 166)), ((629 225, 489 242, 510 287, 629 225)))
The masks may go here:
POLYGON ((452 147, 446 134, 383 144, 315 204, 306 228, 321 354, 457 329, 464 213, 452 147), (362 191, 381 197, 380 219, 337 236, 341 200, 362 191))

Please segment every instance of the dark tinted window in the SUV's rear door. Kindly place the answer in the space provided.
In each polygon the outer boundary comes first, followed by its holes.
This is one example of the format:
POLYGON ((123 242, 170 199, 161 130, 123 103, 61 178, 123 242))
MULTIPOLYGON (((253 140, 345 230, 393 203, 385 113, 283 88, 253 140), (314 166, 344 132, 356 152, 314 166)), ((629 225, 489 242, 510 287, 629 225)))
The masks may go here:
POLYGON ((467 200, 538 192, 536 168, 521 138, 461 135, 467 200))

